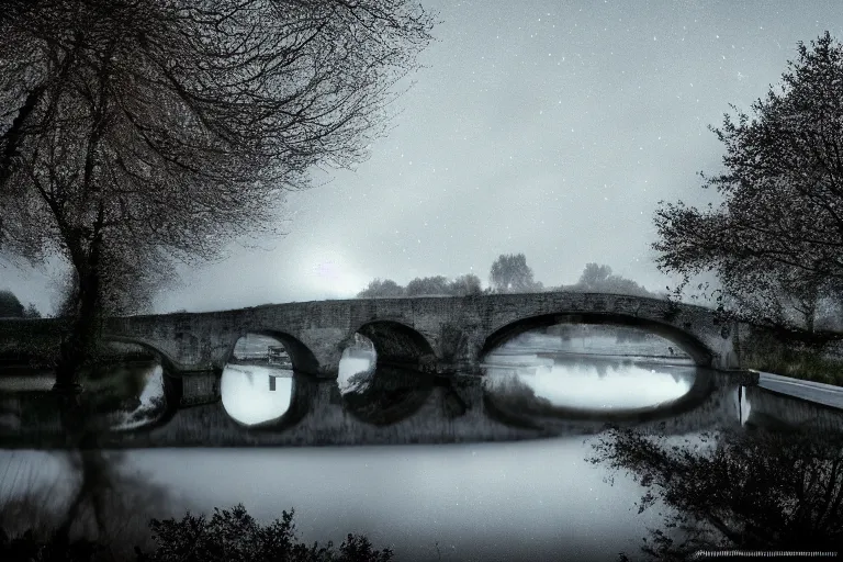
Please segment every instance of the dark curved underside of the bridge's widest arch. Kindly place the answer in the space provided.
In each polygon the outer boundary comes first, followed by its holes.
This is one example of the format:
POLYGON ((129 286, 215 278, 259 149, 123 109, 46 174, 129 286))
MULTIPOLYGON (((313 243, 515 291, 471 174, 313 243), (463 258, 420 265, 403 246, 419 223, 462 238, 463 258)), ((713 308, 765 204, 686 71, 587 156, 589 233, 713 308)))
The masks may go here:
POLYGON ((711 367, 711 362, 715 357, 711 349, 709 349, 709 347, 700 341, 696 336, 671 324, 665 324, 663 322, 650 318, 642 318, 640 316, 611 312, 577 312, 528 316, 506 324, 494 330, 485 338, 480 351, 480 358, 482 360, 497 346, 504 344, 505 341, 519 334, 524 334, 525 331, 529 331, 536 328, 552 326, 554 324, 597 324, 641 328, 651 334, 661 336, 672 341, 673 344, 676 344, 677 347, 690 356, 697 367, 711 367))

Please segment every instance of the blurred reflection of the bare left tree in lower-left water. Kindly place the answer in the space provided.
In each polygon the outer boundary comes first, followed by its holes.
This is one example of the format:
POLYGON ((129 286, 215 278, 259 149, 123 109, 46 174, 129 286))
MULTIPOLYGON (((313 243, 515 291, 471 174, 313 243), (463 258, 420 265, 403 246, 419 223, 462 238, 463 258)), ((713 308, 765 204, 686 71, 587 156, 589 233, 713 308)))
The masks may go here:
MULTIPOLYGON (((180 513, 184 506, 175 509, 175 496, 165 486, 126 470, 126 457, 95 449, 0 451, 0 529, 5 537, 31 529, 35 540, 53 542, 61 553, 67 550, 63 542, 78 537, 95 539, 116 560, 133 559, 135 544, 148 551, 149 517, 180 513)), ((22 541, 19 548, 34 546, 22 541)), ((44 558, 18 551, 8 560, 44 558)))

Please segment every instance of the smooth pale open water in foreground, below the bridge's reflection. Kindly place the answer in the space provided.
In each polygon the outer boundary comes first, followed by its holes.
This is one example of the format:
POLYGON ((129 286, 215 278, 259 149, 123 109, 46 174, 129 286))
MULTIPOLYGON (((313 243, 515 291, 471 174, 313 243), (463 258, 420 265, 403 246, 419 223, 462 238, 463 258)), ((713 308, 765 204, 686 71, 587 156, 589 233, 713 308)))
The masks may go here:
MULTIPOLYGON (((587 447, 569 438, 160 449, 128 451, 123 472, 144 474, 147 486, 169 491, 169 512, 211 514, 243 503, 269 522, 294 507, 302 541, 339 544, 347 532, 360 532, 393 548, 395 561, 438 560, 437 543, 441 560, 452 561, 612 560, 656 519, 618 508, 634 502, 640 488, 606 486, 606 471, 584 460, 587 447)), ((67 477, 59 470, 46 476, 44 487, 67 477)), ((135 513, 145 507, 138 503, 135 513)))

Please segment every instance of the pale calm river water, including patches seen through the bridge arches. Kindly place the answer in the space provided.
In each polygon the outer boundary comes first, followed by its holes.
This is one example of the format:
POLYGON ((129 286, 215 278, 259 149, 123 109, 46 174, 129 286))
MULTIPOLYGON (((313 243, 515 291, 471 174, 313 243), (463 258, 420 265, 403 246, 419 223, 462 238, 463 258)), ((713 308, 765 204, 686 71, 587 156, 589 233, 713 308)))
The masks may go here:
MULTIPOLYGON (((290 403, 292 379, 278 366, 260 364, 267 344, 260 337, 245 342, 239 350, 246 360, 229 364, 223 374, 224 406, 245 424, 278 417, 290 403), (273 376, 270 390, 268 379, 273 376)), ((688 392, 697 372, 668 347, 652 338, 630 344, 594 334, 567 340, 528 335, 486 358, 487 389, 493 392, 497 382, 517 379, 553 405, 591 409, 665 403, 688 392)), ((347 352, 340 390, 349 391, 349 379, 369 367, 366 350, 347 352)), ((138 408, 161 392, 159 367, 146 367, 143 378, 138 408)), ((40 378, 2 381, 7 392, 49 384, 40 378)), ((739 423, 752 407, 745 397, 741 402, 734 414, 739 423)), ((119 422, 130 424, 130 418, 119 422)), ((349 532, 364 533, 376 547, 391 547, 398 561, 615 560, 620 551, 636 560, 648 528, 662 524, 663 509, 656 502, 639 514, 645 488, 623 471, 587 461, 600 437, 155 449, 106 457, 114 477, 131 490, 125 496, 132 498, 128 513, 138 521, 243 503, 261 521, 295 508, 305 541, 339 543, 349 532)), ((693 448, 702 441, 692 434, 665 442, 693 448)), ((27 494, 42 497, 41 507, 30 508, 30 517, 48 504, 64 505, 78 486, 71 459, 64 452, 0 451, 2 502, 16 505, 15 498, 27 494), (40 495, 44 492, 48 495, 40 495)))

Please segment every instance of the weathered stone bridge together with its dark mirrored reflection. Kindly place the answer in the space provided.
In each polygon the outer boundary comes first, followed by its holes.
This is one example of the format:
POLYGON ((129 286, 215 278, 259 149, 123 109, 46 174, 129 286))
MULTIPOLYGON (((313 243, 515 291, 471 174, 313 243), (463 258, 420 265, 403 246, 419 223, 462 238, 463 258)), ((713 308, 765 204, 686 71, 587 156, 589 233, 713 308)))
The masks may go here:
MULTIPOLYGON (((689 397, 675 404, 615 418, 559 411, 532 415, 525 423, 518 415, 490 411, 494 404, 476 374, 483 355, 518 333, 560 322, 638 326, 674 341, 701 367, 739 367, 738 326, 718 325, 707 308, 625 295, 323 301, 109 318, 103 338, 139 344, 161 358, 168 411, 155 424, 100 431, 95 440, 102 447, 458 442, 582 435, 599 431, 607 423, 684 434, 738 423, 737 387, 757 381, 757 373, 717 373, 711 384, 695 385, 689 397), (222 369, 247 333, 280 339, 297 373, 288 414, 260 427, 233 420, 220 396, 222 369), (367 420, 339 396, 339 359, 356 333, 372 339, 382 372, 389 366, 409 364, 425 373, 426 390, 406 393, 406 404, 390 406, 389 419, 367 420)), ((0 322, 0 353, 29 349, 48 355, 67 329, 61 321, 0 322)), ((3 447, 71 445, 60 430, 58 411, 48 402, 4 408, 3 447), (43 416, 24 419, 32 406, 43 416)))

